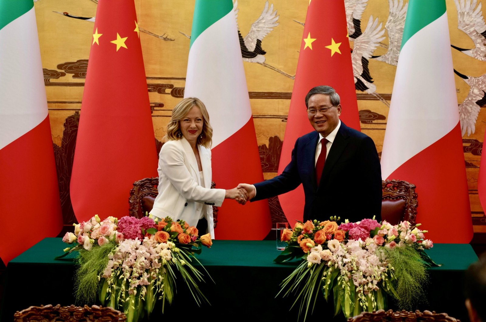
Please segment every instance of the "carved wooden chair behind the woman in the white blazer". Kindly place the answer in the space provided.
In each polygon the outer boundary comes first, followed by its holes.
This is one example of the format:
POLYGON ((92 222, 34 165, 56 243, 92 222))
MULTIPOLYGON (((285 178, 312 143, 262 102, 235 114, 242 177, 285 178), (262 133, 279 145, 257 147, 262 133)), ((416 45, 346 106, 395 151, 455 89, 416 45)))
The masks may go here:
MULTIPOLYGON (((142 218, 145 212, 150 212, 154 207, 155 197, 158 194, 158 177, 144 178, 133 183, 133 188, 130 190, 130 197, 128 199, 130 216, 142 218)), ((211 189, 214 189, 216 184, 211 182, 211 189)), ((218 222, 218 207, 213 206, 214 227, 218 222)))

